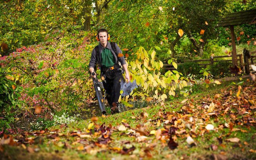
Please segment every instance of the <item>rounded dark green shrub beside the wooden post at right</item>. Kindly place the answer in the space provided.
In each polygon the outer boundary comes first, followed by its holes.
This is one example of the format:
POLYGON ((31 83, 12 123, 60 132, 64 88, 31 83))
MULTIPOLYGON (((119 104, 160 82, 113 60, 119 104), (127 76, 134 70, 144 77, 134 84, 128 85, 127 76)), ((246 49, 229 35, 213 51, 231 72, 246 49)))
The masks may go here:
POLYGON ((231 63, 220 61, 215 62, 213 65, 210 66, 210 72, 215 78, 221 78, 225 76, 230 76, 229 68, 231 66, 231 63))

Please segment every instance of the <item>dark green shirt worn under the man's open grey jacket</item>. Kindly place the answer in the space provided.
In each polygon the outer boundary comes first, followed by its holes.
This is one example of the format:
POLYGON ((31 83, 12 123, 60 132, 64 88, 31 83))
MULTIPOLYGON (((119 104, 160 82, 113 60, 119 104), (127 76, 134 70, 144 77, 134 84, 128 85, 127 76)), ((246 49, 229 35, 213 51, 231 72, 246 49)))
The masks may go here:
POLYGON ((115 58, 111 50, 104 48, 101 52, 101 64, 103 67, 112 67, 115 64, 115 58))

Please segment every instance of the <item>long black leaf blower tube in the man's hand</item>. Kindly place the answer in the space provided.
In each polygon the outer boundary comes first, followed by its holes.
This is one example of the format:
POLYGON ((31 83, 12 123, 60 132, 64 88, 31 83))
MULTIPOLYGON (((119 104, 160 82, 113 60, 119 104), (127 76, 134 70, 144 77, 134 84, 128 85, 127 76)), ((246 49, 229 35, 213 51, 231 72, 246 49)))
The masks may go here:
MULTIPOLYGON (((92 75, 95 75, 95 72, 92 73, 92 75)), ((98 78, 93 78, 93 84, 94 84, 94 89, 96 91, 96 96, 99 102, 99 107, 101 108, 101 113, 102 114, 106 114, 106 109, 105 109, 105 104, 104 104, 104 100, 103 100, 103 96, 101 94, 101 88, 99 87, 99 81, 98 78)))

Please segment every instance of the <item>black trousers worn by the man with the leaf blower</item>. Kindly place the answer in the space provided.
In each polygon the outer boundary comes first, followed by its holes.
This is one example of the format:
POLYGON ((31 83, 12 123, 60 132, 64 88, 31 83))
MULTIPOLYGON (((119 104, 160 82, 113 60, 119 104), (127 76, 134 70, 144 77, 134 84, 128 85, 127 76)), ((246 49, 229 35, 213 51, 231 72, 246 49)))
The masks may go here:
POLYGON ((124 78, 123 75, 120 73, 120 70, 114 70, 111 73, 111 76, 114 78, 110 79, 106 76, 105 81, 103 81, 103 86, 107 93, 108 104, 110 105, 110 107, 113 107, 118 105, 121 87, 120 82, 124 81, 124 78))

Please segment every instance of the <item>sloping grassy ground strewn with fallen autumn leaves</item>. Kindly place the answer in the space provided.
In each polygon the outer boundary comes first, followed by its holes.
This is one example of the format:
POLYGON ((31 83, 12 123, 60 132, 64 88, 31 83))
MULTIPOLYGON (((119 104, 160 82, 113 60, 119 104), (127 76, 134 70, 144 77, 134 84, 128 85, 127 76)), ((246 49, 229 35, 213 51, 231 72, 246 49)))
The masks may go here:
MULTIPOLYGON (((255 159, 256 86, 200 86, 189 98, 5 134, 0 159, 255 159)), ((240 84, 240 85, 236 85, 240 84)))

